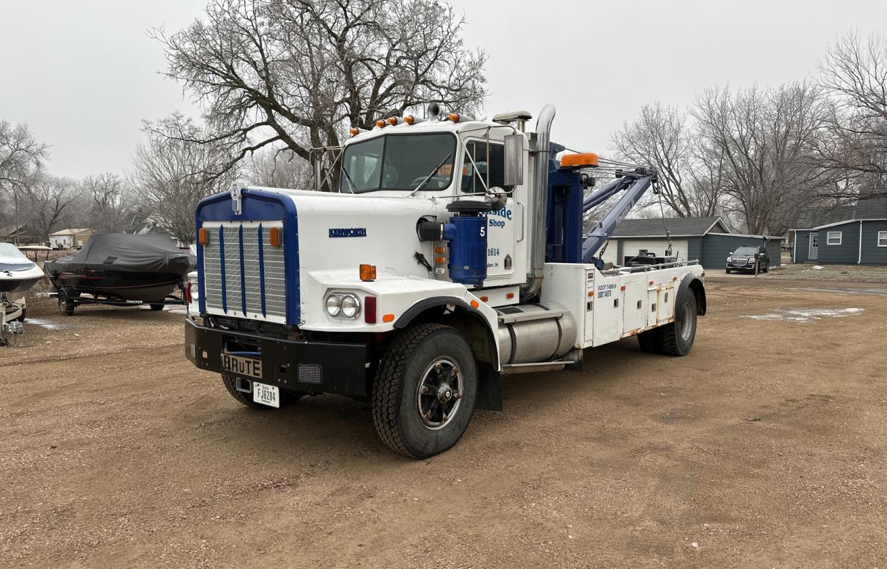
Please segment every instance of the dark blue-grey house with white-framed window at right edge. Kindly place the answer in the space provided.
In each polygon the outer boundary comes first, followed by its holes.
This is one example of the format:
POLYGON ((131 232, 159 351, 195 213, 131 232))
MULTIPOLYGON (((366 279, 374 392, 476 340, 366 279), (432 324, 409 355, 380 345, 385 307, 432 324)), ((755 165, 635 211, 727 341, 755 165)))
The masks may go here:
POLYGON ((887 199, 805 207, 792 225, 792 262, 887 265, 887 199))

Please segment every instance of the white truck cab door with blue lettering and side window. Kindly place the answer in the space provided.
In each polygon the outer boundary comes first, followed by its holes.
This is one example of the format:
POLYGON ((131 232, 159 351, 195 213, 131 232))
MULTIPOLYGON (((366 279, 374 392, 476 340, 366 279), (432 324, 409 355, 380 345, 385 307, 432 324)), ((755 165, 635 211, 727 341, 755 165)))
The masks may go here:
MULTIPOLYGON (((465 158, 462 191, 483 193, 487 188, 502 187, 505 182, 505 146, 487 141, 469 141, 466 144, 471 158, 465 158), (482 181, 483 179, 483 181, 482 181)), ((515 228, 522 220, 514 197, 506 206, 487 214, 487 280, 511 277, 514 274, 515 228)))

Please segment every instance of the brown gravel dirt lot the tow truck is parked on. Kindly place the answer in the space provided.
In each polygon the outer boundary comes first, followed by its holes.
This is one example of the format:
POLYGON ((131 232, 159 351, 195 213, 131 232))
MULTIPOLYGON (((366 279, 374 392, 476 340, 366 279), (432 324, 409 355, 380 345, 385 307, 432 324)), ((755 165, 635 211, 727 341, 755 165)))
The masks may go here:
POLYGON ((44 303, 0 348, 0 565, 883 566, 884 292, 711 278, 687 357, 508 378, 428 462, 356 401, 240 407, 180 314, 44 303))

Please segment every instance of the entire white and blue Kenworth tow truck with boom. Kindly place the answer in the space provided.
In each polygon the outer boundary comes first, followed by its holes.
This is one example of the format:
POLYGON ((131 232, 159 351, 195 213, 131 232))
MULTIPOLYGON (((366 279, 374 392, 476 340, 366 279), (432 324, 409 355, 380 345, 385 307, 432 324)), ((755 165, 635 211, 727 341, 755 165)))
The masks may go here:
POLYGON ((381 440, 422 458, 474 409, 501 410, 508 374, 578 370, 584 348, 629 336, 686 355, 702 267, 600 259, 655 170, 551 143, 553 117, 546 105, 536 132, 524 112, 392 117, 352 129, 337 192, 235 183, 204 199, 186 356, 255 409, 371 401, 381 440), (585 211, 616 194, 584 234, 585 211))

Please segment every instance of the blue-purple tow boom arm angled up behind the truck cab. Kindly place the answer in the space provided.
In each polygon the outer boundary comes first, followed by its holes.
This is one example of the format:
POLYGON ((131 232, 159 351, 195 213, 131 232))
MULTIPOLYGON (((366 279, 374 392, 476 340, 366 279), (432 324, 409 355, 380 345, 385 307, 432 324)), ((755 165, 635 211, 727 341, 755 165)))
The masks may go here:
POLYGON ((594 206, 603 203, 606 199, 616 195, 619 191, 625 191, 625 195, 619 199, 611 210, 604 215, 598 226, 590 233, 585 234, 585 242, 582 244, 582 261, 593 262, 599 269, 603 268, 603 261, 595 257, 595 253, 607 242, 608 238, 616 230, 616 226, 624 220, 638 203, 641 196, 648 191, 656 178, 655 168, 638 168, 632 173, 623 173, 623 177, 608 183, 599 191, 595 191, 583 202, 583 211, 588 211, 594 206))

